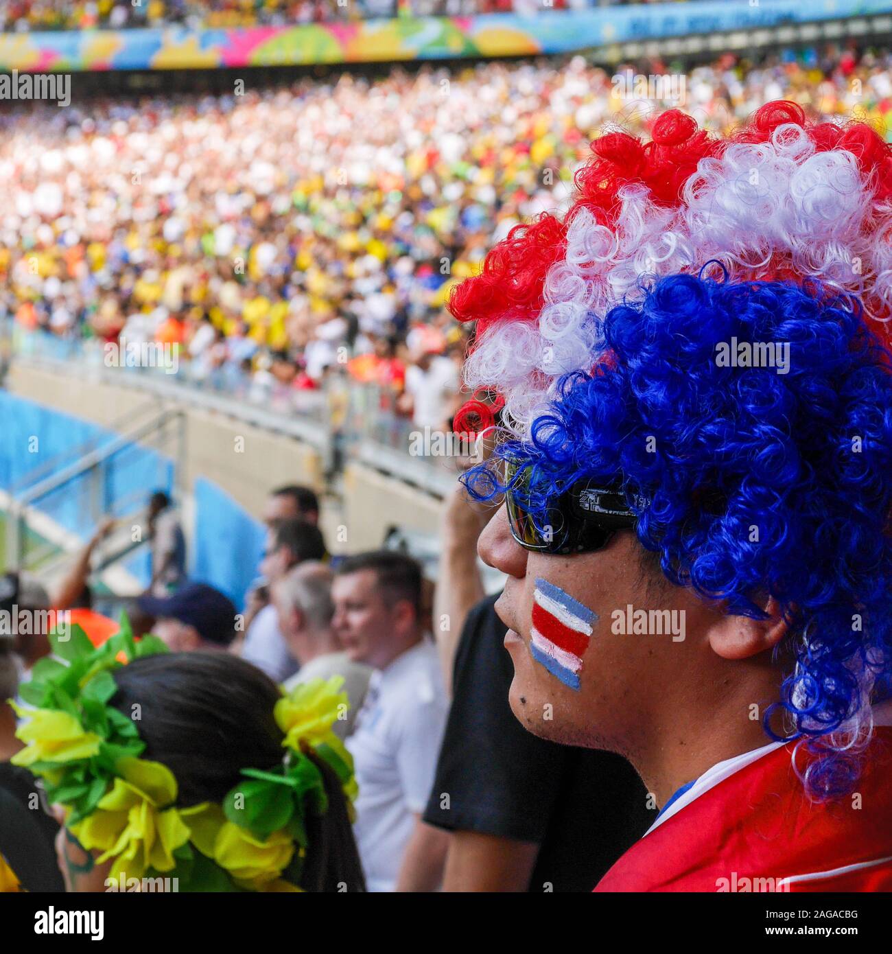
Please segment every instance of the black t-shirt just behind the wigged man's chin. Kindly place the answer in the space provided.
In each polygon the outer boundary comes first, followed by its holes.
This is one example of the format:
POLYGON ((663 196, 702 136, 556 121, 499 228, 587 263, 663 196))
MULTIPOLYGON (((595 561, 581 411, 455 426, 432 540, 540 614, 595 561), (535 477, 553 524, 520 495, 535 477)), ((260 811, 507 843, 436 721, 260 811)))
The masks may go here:
POLYGON ((497 596, 468 613, 425 821, 538 842, 530 891, 591 891, 656 818, 625 758, 533 736, 508 704, 514 667, 497 596), (448 793, 448 808, 441 808, 448 793))

